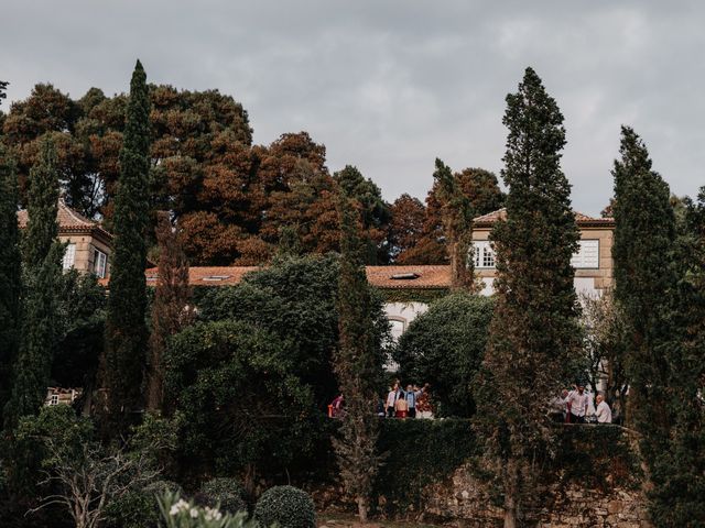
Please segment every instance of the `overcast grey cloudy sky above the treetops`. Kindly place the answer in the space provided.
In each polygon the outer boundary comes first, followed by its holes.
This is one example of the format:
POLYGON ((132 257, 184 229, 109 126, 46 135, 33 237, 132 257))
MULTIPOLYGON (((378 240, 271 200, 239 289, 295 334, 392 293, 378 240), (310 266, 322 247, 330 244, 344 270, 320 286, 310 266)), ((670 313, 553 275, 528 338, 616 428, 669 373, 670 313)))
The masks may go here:
POLYGON ((703 24, 698 0, 3 0, 0 78, 11 100, 115 94, 139 57, 153 82, 232 95, 258 143, 308 131, 392 200, 423 198, 436 156, 499 173, 531 65, 565 116, 575 208, 598 213, 622 123, 674 193, 705 185, 703 24))

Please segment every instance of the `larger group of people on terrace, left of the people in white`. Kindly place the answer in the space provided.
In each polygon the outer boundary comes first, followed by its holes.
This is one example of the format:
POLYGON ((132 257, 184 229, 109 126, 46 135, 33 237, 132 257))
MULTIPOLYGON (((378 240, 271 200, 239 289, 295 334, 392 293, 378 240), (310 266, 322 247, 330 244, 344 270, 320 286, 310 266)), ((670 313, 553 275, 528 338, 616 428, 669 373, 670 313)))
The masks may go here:
MULTIPOLYGON (((345 413, 345 399, 343 394, 328 405, 328 417, 340 418, 345 413)), ((377 403, 377 416, 380 418, 433 418, 433 410, 429 399, 429 384, 419 388, 409 384, 406 389, 401 388, 397 380, 387 394, 387 399, 377 403)))

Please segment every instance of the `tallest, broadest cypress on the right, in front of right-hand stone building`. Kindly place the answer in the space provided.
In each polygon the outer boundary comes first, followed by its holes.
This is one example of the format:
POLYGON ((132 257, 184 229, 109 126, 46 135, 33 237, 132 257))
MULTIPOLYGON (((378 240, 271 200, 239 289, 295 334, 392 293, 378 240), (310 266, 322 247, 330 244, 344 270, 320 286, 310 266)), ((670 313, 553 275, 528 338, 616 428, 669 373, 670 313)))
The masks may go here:
POLYGON ((497 305, 479 377, 477 429, 503 488, 505 527, 523 522, 539 454, 553 441, 550 398, 581 345, 571 257, 578 230, 561 170, 563 116, 533 69, 507 96, 507 219, 491 241, 497 305))

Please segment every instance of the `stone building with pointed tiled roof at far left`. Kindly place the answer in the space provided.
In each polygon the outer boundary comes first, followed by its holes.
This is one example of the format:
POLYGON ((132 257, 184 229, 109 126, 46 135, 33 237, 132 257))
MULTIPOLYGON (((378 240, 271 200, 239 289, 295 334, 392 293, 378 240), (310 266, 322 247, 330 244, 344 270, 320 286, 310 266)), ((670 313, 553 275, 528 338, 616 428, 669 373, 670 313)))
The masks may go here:
MULTIPOLYGON (((64 270, 95 273, 98 278, 110 276, 112 235, 99 222, 89 220, 58 200, 58 240, 66 244, 64 270)), ((20 228, 26 227, 28 213, 18 212, 20 228)))

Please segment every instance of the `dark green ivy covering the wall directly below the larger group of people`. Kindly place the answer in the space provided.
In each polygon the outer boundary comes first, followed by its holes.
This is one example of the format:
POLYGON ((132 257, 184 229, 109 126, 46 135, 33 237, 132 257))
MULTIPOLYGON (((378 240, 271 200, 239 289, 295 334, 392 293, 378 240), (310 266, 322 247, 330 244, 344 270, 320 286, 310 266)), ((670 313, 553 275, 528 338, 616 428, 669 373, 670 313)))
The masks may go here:
POLYGON ((423 488, 453 475, 479 454, 478 442, 466 419, 382 420, 378 452, 384 454, 373 495, 386 513, 423 509, 423 488), (410 455, 413 453, 413 455, 410 455))

